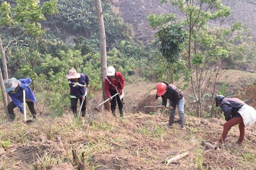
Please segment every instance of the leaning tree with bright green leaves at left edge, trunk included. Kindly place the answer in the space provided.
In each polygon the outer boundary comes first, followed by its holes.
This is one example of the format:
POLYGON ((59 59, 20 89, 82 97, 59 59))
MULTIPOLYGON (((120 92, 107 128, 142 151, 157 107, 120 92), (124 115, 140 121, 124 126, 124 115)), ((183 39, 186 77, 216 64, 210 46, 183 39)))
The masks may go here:
MULTIPOLYGON (((8 27, 9 29, 15 29, 17 32, 21 32, 17 34, 17 37, 9 40, 9 43, 3 48, 2 43, 2 34, 0 34, 0 50, 2 55, 2 64, 3 64, 3 75, 4 78, 8 78, 8 67, 6 63, 5 50, 8 48, 11 42, 16 41, 23 37, 25 34, 33 35, 34 37, 40 36, 43 34, 43 30, 41 29, 41 20, 45 20, 44 15, 54 14, 58 12, 57 9, 57 0, 51 0, 48 2, 43 2, 42 5, 36 0, 19 0, 12 2, 12 6, 7 1, 4 1, 0 7, 0 32, 4 32, 3 30, 8 27)), ((8 40, 6 41, 8 42, 8 40)), ((1 70, 0 70, 1 72, 1 70)), ((9 120, 8 111, 7 111, 7 99, 6 94, 3 91, 3 77, 2 72, 0 75, 0 84, 1 91, 3 96, 3 104, 5 107, 5 112, 7 118, 9 120)))

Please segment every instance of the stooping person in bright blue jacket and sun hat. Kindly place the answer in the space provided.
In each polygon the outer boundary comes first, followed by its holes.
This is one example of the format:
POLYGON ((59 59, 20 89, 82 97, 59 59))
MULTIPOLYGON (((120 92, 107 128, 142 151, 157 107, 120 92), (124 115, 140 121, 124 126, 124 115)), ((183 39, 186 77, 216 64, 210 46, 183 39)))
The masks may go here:
POLYGON ((8 104, 8 114, 10 121, 13 122, 15 120, 15 113, 13 112, 15 107, 19 107, 20 112, 24 114, 24 107, 22 106, 23 101, 23 90, 26 95, 26 103, 29 106, 29 110, 33 116, 36 118, 36 110, 34 109, 34 103, 36 103, 36 97, 34 93, 31 91, 29 85, 32 80, 30 78, 24 78, 17 80, 16 78, 6 79, 4 82, 5 92, 8 92, 10 99, 12 102, 8 104))

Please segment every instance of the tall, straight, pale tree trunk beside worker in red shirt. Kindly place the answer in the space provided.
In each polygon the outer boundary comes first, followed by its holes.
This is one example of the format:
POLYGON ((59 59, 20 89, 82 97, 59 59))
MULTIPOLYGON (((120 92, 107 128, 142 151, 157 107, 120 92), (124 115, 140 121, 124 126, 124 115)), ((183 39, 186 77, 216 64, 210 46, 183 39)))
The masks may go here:
MULTIPOLYGON (((103 99, 107 100, 108 97, 104 91, 105 86, 105 77, 107 76, 107 49, 106 49, 106 34, 105 34, 105 26, 103 20, 103 12, 101 8, 101 1, 94 0, 94 5, 97 12, 97 21, 99 27, 99 35, 100 35, 100 70, 101 70, 101 81, 102 81, 102 91, 103 91, 103 99)), ((110 103, 104 103, 104 107, 106 110, 110 111, 110 103)))

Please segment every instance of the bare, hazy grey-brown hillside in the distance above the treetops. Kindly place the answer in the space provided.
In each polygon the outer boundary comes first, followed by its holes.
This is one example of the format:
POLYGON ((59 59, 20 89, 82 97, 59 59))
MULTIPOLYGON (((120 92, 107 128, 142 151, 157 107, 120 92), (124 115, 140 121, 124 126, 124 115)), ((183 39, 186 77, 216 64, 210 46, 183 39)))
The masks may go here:
MULTIPOLYGON (((154 34, 146 19, 148 15, 176 13, 178 17, 182 16, 176 6, 171 6, 170 3, 161 4, 160 0, 113 0, 112 2, 124 22, 134 27, 134 38, 143 42, 151 41, 154 34)), ((251 35, 256 39, 256 1, 223 0, 222 2, 232 9, 232 15, 226 19, 223 26, 240 22, 251 29, 251 35)))

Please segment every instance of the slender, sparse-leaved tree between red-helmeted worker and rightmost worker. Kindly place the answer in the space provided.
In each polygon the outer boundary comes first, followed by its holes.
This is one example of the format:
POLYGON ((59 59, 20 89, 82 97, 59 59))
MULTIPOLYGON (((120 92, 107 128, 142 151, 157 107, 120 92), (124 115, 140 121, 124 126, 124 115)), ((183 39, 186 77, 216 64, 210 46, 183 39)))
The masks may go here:
POLYGON ((222 75, 222 64, 236 45, 232 34, 240 30, 240 24, 231 28, 222 27, 231 13, 221 0, 162 0, 177 6, 184 15, 181 22, 187 30, 185 60, 190 69, 190 83, 194 93, 196 112, 202 117, 207 90, 211 89, 212 99, 215 85, 222 75), (215 21, 216 25, 211 21, 215 21), (233 39, 232 39, 233 38, 233 39))

